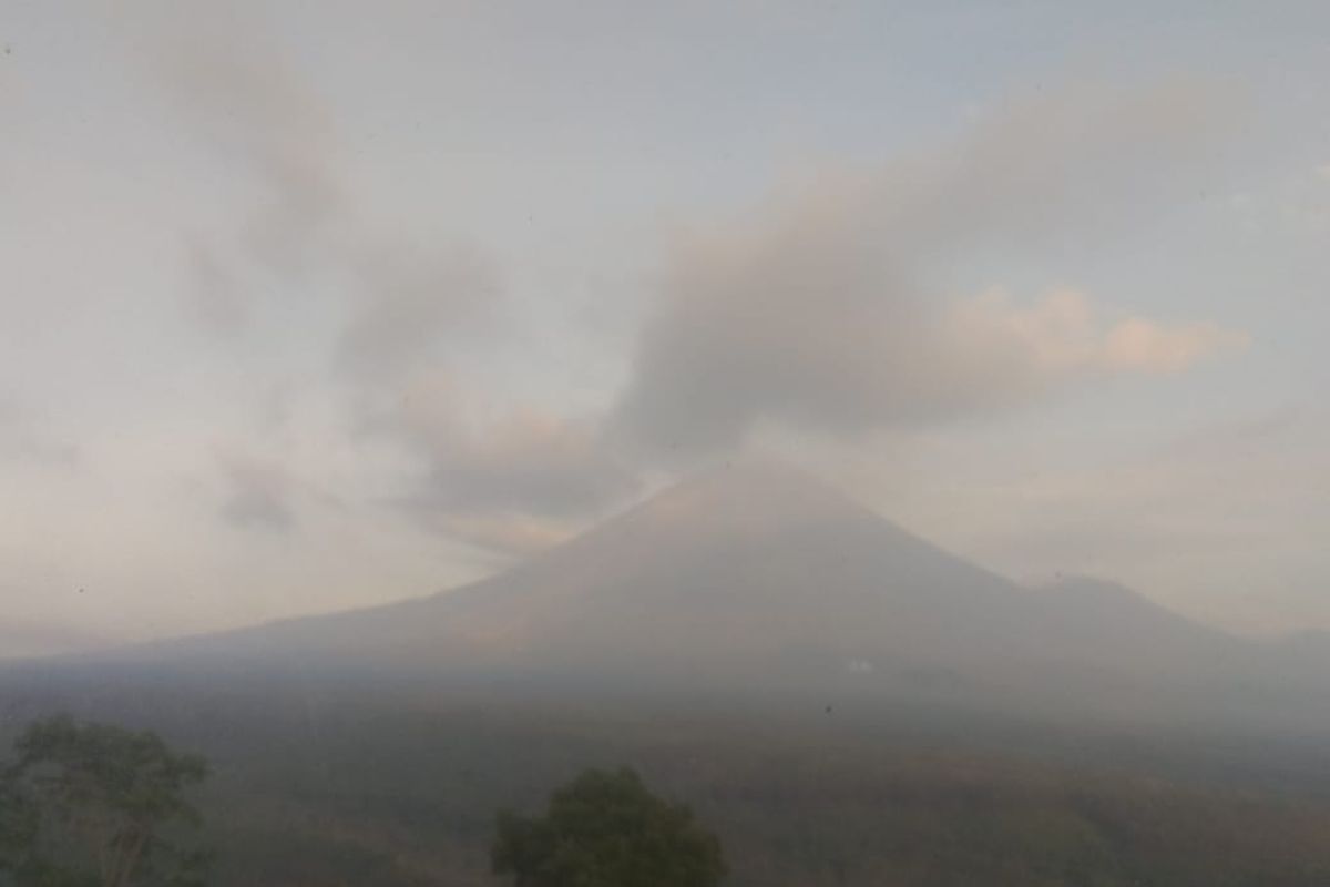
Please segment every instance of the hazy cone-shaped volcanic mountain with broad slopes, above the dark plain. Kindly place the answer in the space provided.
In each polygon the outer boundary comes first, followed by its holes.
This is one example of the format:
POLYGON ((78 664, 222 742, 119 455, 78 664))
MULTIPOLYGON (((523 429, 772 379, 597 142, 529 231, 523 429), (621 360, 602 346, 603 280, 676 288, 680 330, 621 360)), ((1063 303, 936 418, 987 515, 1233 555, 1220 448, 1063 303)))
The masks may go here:
POLYGON ((162 665, 436 681, 1200 698, 1264 645, 1124 588, 1023 588, 797 469, 718 468, 508 572, 431 597, 121 650, 162 665))

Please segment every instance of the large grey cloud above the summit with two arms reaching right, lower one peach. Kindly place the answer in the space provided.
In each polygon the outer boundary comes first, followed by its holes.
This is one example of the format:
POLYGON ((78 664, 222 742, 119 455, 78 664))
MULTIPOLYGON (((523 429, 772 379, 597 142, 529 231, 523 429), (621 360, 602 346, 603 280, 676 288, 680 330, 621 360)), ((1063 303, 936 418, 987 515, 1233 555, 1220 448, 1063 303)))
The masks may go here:
POLYGON ((975 250, 1039 250, 1178 186, 1170 161, 1205 153, 1225 120, 1212 90, 1185 84, 1072 90, 693 235, 641 332, 616 432, 657 455, 730 447, 763 423, 858 434, 1241 347, 1214 324, 1103 327, 1080 294, 1032 307, 1000 294, 944 305, 930 285, 975 250))

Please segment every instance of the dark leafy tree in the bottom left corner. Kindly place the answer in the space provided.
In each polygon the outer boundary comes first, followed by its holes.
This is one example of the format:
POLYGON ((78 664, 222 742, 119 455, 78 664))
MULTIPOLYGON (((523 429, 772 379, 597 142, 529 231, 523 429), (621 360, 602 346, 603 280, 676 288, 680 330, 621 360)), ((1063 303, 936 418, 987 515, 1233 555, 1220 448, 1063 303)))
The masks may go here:
POLYGON ((207 765, 156 733, 36 721, 0 771, 0 884, 129 887, 197 880, 206 854, 173 843, 197 828, 186 790, 207 765))

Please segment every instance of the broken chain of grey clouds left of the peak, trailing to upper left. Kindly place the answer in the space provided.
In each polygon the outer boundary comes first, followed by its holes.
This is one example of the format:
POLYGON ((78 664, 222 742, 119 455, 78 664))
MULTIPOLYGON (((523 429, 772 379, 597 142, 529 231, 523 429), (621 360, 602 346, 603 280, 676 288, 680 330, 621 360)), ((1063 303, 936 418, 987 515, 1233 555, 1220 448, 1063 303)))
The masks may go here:
MULTIPOLYGON (((407 508, 458 537, 525 548, 555 535, 541 524, 548 516, 565 517, 617 491, 621 472, 600 464, 604 453, 576 423, 547 427, 527 415, 477 432, 450 415, 422 434, 398 392, 447 366, 454 355, 446 346, 475 338, 496 317, 496 269, 479 250, 422 242, 367 219, 336 160, 334 121, 255 27, 229 21, 217 33, 182 33, 164 69, 184 118, 257 193, 238 231, 186 238, 205 326, 233 336, 254 322, 255 293, 310 289, 314 274, 344 294, 347 314, 329 342, 331 368, 347 383, 335 394, 362 424, 407 445, 418 468, 407 508), (448 435, 438 434, 440 422, 448 435)), ((221 468, 227 521, 278 531, 298 524, 301 485, 281 464, 230 455, 221 468)))

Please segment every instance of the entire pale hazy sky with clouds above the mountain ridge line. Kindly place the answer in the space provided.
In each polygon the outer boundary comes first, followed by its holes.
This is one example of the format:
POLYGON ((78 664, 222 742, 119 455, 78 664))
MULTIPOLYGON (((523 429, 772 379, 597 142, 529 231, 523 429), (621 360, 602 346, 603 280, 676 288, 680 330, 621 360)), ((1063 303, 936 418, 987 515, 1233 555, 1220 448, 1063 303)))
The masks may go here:
POLYGON ((1330 629, 1322 3, 0 0, 0 653, 438 590, 747 448, 1330 629))

